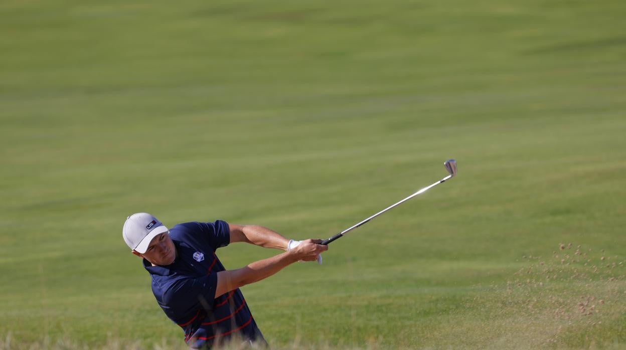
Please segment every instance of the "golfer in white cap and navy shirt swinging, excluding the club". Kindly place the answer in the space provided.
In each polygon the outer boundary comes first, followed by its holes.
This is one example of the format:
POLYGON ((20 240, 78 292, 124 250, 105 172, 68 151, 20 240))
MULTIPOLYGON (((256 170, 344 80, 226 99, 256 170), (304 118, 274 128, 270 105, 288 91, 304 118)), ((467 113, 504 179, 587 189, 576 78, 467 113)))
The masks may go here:
POLYGON ((267 346, 239 287, 279 272, 294 262, 321 262, 327 250, 321 240, 289 240, 256 225, 187 222, 168 229, 147 213, 130 215, 122 235, 133 254, 143 258, 152 277, 152 292, 163 312, 185 332, 193 349, 210 349, 227 342, 267 346), (246 242, 285 252, 227 270, 215 250, 246 242))

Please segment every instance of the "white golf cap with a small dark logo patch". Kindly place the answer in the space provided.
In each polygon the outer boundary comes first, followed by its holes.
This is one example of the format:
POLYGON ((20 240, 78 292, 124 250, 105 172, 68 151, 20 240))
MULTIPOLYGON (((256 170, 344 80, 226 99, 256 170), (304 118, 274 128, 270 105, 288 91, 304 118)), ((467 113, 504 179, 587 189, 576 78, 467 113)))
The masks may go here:
POLYGON ((121 235, 128 247, 141 254, 148 250, 150 241, 168 228, 148 213, 136 213, 126 218, 121 235))

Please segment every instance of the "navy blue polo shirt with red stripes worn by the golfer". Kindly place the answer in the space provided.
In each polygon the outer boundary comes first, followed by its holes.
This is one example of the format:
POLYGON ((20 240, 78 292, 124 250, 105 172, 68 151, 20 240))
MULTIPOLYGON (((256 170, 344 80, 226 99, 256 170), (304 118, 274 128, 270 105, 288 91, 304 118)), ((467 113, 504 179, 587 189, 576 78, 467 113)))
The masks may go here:
POLYGON ((239 289, 215 297, 217 272, 225 270, 215 250, 230 242, 228 224, 187 222, 170 229, 176 260, 166 266, 143 265, 152 277, 152 292, 167 317, 182 327, 185 342, 210 348, 230 337, 265 343, 239 289))

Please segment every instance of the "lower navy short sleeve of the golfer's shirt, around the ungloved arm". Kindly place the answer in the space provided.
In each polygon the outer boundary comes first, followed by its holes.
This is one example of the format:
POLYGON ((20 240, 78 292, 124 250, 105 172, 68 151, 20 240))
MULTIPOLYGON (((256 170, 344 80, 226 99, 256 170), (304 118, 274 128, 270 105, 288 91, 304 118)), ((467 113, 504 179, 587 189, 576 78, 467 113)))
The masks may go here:
POLYGON ((194 312, 200 306, 210 310, 213 308, 216 289, 217 274, 178 279, 163 294, 163 303, 168 309, 185 314, 194 312))

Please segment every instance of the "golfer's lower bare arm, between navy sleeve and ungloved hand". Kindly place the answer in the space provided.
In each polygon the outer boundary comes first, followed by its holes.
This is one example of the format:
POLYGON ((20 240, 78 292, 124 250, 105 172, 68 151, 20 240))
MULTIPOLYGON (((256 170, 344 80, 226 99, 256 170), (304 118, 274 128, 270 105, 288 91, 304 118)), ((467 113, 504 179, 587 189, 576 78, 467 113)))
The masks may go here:
POLYGON ((241 269, 220 271, 217 273, 215 297, 270 277, 297 260, 297 257, 294 257, 291 252, 284 252, 274 257, 255 261, 241 269))

